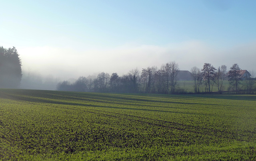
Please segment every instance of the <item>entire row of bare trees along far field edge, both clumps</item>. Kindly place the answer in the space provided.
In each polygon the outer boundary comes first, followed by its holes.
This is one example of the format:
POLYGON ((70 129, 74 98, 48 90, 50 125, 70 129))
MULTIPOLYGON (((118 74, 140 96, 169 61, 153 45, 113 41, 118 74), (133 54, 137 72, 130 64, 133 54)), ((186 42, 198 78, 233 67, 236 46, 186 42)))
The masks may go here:
MULTIPOLYGON (((178 63, 170 61, 160 68, 153 66, 139 71, 137 68, 127 74, 119 76, 117 73, 99 73, 96 79, 79 77, 74 83, 68 81, 59 82, 57 90, 80 91, 80 92, 118 92, 118 93, 158 93, 178 94, 184 93, 184 89, 178 86, 178 63)), ((242 79, 240 68, 234 64, 230 71, 222 65, 216 69, 210 63, 204 63, 202 69, 192 67, 194 92, 212 92, 213 86, 218 88, 218 93, 223 91, 223 82, 228 80, 228 92, 256 92, 255 79, 242 79), (242 85, 242 86, 241 86, 242 85), (202 90, 201 87, 204 87, 202 90)))

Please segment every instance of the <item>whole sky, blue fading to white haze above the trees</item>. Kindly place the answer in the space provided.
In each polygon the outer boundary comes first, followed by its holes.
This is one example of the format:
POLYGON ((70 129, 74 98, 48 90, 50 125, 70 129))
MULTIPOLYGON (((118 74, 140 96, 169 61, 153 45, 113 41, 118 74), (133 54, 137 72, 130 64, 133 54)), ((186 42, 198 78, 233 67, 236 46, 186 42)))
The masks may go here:
POLYGON ((60 79, 122 76, 170 61, 256 70, 255 0, 5 0, 0 46, 22 71, 60 79))

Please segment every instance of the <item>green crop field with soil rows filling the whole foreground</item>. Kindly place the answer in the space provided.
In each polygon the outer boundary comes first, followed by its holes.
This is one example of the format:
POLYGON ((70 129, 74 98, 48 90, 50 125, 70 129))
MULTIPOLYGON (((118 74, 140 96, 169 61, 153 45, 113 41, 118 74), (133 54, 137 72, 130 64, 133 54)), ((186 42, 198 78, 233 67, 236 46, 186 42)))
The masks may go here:
POLYGON ((256 160, 256 96, 0 89, 0 159, 256 160))

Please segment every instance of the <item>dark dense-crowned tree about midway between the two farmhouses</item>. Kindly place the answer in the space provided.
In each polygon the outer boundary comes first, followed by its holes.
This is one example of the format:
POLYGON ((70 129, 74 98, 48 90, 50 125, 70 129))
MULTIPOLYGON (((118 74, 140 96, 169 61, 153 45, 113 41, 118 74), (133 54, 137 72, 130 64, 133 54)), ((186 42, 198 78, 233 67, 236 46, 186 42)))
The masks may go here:
POLYGON ((207 81, 209 87, 209 92, 211 92, 210 84, 214 84, 214 75, 216 69, 210 63, 204 63, 202 74, 204 81, 207 81), (212 83, 210 83, 212 81, 212 83))

